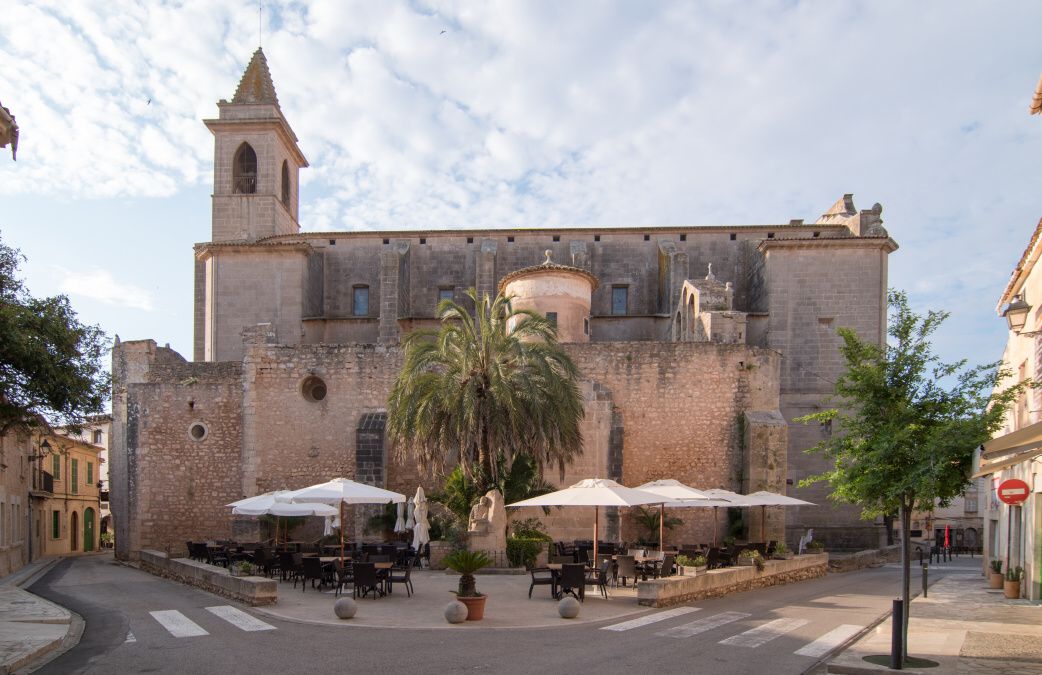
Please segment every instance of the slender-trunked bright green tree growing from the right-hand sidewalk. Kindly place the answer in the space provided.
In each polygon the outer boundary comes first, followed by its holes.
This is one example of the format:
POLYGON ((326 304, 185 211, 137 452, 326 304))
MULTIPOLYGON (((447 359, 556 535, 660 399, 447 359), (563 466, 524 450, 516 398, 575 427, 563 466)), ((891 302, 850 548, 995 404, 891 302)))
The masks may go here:
POLYGON ((865 518, 898 514, 907 656, 912 511, 947 505, 963 492, 974 450, 1029 384, 1001 389, 1010 373, 997 364, 941 361, 929 340, 947 312, 918 315, 898 291, 888 294, 888 344, 838 331, 846 361, 836 383, 839 406, 799 420, 833 425, 835 432, 809 450, 823 453, 832 468, 800 484, 828 481, 830 497, 860 505, 865 518))

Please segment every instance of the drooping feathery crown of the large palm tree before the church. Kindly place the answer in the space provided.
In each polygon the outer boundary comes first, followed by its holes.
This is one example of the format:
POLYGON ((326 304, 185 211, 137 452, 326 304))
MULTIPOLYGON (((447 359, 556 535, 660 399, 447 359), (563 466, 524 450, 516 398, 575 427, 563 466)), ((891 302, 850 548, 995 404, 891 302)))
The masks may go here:
POLYGON ((389 438, 399 458, 499 482, 502 467, 527 455, 565 466, 582 451, 578 369, 542 315, 502 295, 467 296, 475 316, 451 300, 438 305, 439 330, 416 330, 388 399, 389 438))

